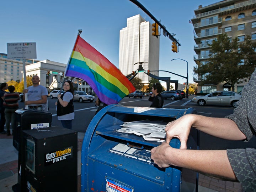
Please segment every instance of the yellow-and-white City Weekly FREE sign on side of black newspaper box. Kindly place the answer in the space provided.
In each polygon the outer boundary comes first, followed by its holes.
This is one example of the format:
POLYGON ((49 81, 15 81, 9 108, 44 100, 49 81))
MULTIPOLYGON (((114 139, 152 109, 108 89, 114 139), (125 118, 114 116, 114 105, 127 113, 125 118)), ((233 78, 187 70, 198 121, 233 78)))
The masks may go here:
POLYGON ((72 157, 73 157, 73 147, 66 147, 64 149, 45 154, 45 164, 49 165, 49 164, 57 163, 72 157))

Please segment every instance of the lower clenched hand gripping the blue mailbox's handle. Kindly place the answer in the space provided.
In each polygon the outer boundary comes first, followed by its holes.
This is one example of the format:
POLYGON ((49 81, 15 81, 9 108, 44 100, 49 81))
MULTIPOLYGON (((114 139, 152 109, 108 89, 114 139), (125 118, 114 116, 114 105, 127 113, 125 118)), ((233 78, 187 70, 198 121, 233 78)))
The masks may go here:
POLYGON ((162 142, 161 145, 151 149, 151 159, 160 168, 169 167, 171 164, 169 163, 170 159, 168 156, 171 154, 171 149, 172 147, 168 143, 162 142))

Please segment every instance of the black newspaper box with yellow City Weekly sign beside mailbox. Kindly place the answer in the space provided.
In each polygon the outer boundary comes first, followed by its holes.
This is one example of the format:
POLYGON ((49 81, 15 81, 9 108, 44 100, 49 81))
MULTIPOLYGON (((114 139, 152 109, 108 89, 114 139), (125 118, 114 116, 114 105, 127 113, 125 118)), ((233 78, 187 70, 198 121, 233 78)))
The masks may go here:
POLYGON ((77 132, 53 126, 22 131, 21 191, 77 191, 77 132))

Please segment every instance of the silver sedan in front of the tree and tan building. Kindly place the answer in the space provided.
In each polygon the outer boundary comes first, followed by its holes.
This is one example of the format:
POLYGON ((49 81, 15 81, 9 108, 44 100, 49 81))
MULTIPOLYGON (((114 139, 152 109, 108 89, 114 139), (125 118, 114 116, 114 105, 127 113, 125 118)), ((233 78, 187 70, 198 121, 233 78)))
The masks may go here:
POLYGON ((241 98, 241 95, 233 91, 214 91, 205 96, 194 97, 191 101, 198 105, 231 105, 237 107, 237 101, 241 98))

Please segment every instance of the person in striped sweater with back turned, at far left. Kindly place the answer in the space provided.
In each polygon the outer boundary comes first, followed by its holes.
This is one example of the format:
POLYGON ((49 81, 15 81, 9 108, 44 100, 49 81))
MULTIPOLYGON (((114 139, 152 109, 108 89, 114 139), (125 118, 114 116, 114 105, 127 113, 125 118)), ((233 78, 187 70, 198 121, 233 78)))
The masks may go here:
POLYGON ((10 123, 12 131, 14 130, 14 121, 15 121, 15 111, 18 109, 18 100, 20 100, 20 95, 17 92, 14 92, 15 87, 13 85, 8 86, 7 92, 4 94, 4 107, 5 107, 5 126, 7 129, 7 135, 11 135, 10 123))

